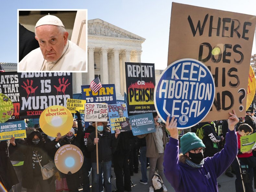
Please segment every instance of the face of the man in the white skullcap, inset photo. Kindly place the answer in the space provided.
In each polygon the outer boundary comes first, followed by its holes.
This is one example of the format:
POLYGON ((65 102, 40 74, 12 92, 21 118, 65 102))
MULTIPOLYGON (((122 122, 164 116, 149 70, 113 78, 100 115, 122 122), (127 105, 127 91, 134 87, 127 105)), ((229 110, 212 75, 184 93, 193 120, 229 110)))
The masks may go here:
POLYGON ((67 43, 68 32, 62 34, 55 25, 41 25, 36 28, 36 40, 39 42, 43 58, 49 62, 60 59, 67 43))

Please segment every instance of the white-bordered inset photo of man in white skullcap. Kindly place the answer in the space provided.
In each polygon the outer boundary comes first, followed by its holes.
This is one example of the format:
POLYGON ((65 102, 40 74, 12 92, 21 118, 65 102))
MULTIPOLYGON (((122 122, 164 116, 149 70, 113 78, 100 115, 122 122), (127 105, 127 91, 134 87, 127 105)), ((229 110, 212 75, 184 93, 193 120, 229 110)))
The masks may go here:
POLYGON ((87 72, 87 9, 18 9, 18 72, 87 72))

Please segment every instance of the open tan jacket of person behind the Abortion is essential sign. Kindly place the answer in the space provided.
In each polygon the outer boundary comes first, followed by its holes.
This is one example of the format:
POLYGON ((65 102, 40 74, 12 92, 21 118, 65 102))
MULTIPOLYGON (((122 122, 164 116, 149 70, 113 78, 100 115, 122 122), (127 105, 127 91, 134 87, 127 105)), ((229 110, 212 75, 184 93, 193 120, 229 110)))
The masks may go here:
MULTIPOLYGON (((163 131, 163 143, 164 143, 164 149, 167 143, 167 137, 165 134, 165 125, 162 125, 162 131, 163 131)), ((146 144, 147 144, 147 152, 146 157, 159 157, 159 153, 157 150, 157 144, 156 144, 156 133, 147 133, 143 135, 137 135, 139 139, 146 137, 146 144)))

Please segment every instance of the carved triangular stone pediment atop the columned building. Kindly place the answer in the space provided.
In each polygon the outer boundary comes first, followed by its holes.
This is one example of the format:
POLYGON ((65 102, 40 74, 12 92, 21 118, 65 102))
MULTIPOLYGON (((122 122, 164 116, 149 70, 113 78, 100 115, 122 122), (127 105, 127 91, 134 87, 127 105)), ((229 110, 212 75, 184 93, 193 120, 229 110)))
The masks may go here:
POLYGON ((88 36, 101 36, 101 37, 112 37, 112 38, 124 38, 131 40, 145 41, 145 38, 135 35, 122 28, 114 26, 101 19, 88 20, 88 36))

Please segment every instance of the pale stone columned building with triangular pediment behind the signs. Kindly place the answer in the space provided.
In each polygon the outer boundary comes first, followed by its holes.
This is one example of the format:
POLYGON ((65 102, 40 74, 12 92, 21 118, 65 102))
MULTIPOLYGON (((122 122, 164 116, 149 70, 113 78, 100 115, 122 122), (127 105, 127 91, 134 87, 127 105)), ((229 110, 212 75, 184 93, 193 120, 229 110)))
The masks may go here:
POLYGON ((88 20, 88 71, 73 73, 73 93, 99 75, 101 84, 115 84, 116 95, 126 92, 124 62, 141 62, 144 38, 101 19, 88 20))

